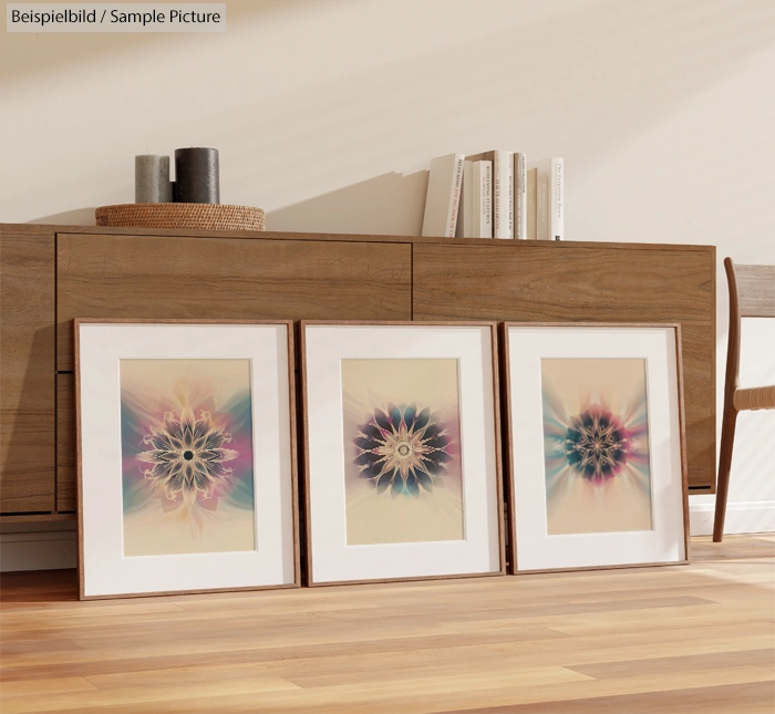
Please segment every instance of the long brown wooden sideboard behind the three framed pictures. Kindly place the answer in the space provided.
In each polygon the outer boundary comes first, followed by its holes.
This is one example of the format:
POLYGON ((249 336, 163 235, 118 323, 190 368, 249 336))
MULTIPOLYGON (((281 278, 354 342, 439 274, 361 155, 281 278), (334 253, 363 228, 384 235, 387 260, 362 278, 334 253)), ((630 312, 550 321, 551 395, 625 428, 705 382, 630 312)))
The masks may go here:
POLYGON ((680 322, 715 484, 715 248, 0 224, 0 522, 75 509, 73 318, 680 322))

